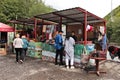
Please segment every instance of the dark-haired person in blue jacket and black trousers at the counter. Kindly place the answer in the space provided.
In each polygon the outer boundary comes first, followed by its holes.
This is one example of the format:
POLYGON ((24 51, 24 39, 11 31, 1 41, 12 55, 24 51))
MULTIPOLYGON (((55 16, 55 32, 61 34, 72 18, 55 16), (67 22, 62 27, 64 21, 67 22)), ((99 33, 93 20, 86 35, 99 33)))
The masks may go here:
POLYGON ((60 55, 60 64, 63 65, 63 39, 62 39, 63 31, 59 31, 55 37, 55 48, 56 48, 56 56, 55 56, 55 65, 58 64, 58 55, 60 55))

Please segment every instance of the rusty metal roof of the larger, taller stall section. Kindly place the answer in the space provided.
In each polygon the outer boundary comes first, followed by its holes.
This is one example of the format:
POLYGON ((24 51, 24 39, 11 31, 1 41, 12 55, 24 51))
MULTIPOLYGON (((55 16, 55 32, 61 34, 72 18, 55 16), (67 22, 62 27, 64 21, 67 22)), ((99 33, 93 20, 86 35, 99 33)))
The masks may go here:
POLYGON ((59 23, 62 17, 62 24, 84 23, 85 14, 87 14, 87 23, 104 22, 105 20, 82 9, 80 7, 66 10, 55 11, 46 14, 34 16, 35 18, 59 23))

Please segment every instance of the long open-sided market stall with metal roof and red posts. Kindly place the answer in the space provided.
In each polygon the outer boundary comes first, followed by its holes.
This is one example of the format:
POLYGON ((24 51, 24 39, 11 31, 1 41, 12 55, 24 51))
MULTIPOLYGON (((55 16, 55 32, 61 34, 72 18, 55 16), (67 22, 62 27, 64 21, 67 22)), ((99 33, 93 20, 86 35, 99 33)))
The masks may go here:
MULTIPOLYGON (((32 20, 22 19, 13 23, 22 24, 23 27, 25 25, 34 26, 31 28, 32 30, 27 31, 27 33, 30 31, 27 36, 29 40, 28 56, 52 62, 55 58, 53 42, 56 31, 75 32, 78 39, 75 44, 76 63, 80 63, 80 56, 84 50, 86 54, 90 54, 95 49, 102 51, 101 45, 96 41, 96 36, 98 37, 96 31, 106 33, 105 20, 80 7, 40 14, 34 16, 32 20), (32 37, 30 37, 31 34, 32 37)), ((99 61, 106 58, 89 57, 95 60, 95 72, 99 72, 99 61)))

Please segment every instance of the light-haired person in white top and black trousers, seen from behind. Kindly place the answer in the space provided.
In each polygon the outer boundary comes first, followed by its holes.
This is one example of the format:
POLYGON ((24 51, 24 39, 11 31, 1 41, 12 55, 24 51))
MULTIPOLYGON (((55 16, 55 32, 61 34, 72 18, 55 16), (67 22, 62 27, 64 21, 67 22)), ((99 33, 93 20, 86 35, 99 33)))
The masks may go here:
POLYGON ((19 56, 20 56, 20 62, 23 63, 23 56, 22 56, 22 46, 23 46, 23 41, 22 39, 20 38, 20 35, 17 34, 16 35, 16 38, 14 39, 13 41, 13 46, 15 48, 15 51, 16 51, 16 62, 18 63, 19 61, 19 56))

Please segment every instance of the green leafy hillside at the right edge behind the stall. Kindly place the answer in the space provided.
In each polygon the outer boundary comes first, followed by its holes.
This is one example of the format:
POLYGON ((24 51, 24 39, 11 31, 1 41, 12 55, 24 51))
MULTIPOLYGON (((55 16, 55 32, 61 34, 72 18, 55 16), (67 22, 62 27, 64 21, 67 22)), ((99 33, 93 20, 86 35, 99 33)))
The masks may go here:
POLYGON ((111 42, 120 42, 120 6, 112 11, 112 19, 111 13, 105 16, 107 20, 107 37, 111 42))

